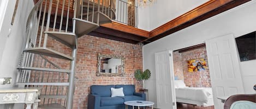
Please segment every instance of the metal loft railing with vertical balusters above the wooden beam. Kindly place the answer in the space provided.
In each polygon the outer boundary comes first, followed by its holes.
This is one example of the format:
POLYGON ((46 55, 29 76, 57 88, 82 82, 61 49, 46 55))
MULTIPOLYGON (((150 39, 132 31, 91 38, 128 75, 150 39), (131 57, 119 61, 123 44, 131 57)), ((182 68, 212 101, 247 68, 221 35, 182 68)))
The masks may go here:
POLYGON ((78 0, 76 18, 97 23, 98 10, 113 21, 138 27, 138 7, 122 0, 78 0))

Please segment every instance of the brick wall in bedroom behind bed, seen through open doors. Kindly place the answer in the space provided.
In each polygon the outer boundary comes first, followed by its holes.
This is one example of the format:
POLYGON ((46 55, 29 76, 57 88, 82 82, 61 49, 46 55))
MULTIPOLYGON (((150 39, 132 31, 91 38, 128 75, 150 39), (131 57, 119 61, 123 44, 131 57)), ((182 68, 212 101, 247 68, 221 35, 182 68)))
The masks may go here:
POLYGON ((205 59, 208 67, 206 47, 201 47, 181 53, 184 82, 189 87, 211 87, 209 68, 198 72, 188 72, 187 61, 205 59))

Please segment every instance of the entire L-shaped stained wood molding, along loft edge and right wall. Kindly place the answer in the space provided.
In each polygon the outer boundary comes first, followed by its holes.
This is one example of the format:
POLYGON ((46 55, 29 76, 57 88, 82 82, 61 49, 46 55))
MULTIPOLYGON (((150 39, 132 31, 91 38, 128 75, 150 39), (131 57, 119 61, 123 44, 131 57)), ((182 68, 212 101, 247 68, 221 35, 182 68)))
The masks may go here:
POLYGON ((117 22, 102 24, 101 26, 122 31, 124 33, 146 37, 147 39, 140 41, 140 43, 147 44, 175 33, 176 31, 187 28, 190 25, 204 21, 207 18, 220 14, 226 10, 237 7, 238 5, 248 1, 251 0, 210 0, 200 5, 199 7, 190 10, 181 16, 178 16, 174 20, 171 20, 161 25, 160 27, 153 29, 152 31, 134 28, 132 26, 117 22))

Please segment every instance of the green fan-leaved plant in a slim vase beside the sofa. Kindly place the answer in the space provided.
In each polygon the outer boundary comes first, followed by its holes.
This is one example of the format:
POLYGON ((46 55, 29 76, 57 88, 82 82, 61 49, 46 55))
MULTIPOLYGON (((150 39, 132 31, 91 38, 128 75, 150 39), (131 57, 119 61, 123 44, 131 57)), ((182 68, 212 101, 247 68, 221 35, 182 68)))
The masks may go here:
POLYGON ((145 80, 148 80, 151 76, 151 72, 149 69, 146 69, 142 72, 140 69, 137 69, 134 73, 135 79, 138 81, 142 81, 143 89, 145 89, 145 80))

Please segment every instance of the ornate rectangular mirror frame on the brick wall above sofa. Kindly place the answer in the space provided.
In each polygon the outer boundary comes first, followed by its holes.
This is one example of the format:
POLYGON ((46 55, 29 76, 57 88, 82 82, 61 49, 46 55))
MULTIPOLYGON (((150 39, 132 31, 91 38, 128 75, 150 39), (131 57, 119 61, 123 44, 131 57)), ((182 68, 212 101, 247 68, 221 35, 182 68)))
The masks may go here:
POLYGON ((96 76, 110 76, 110 77, 112 77, 112 76, 123 76, 123 75, 124 75, 124 57, 116 56, 116 55, 102 55, 102 54, 98 54, 96 76), (100 66, 101 66, 100 57, 121 59, 121 73, 102 73, 102 72, 100 72, 100 66))

